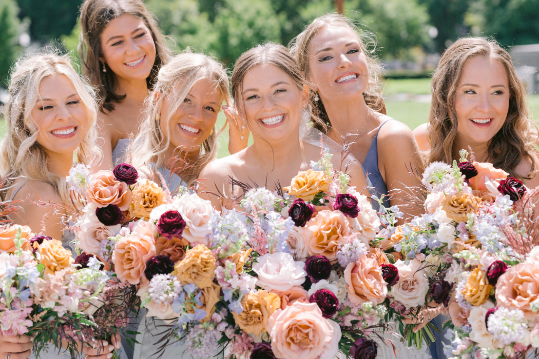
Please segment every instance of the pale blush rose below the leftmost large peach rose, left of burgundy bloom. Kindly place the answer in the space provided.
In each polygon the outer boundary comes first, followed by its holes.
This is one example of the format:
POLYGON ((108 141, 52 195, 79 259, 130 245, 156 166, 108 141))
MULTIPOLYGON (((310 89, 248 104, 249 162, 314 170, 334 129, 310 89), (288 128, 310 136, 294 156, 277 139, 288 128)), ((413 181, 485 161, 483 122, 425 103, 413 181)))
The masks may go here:
POLYGON ((82 217, 80 230, 77 238, 80 241, 79 247, 88 254, 98 254, 99 245, 106 241, 108 237, 115 237, 122 229, 121 224, 116 226, 105 226, 95 215, 95 206, 89 205, 86 214, 82 217))

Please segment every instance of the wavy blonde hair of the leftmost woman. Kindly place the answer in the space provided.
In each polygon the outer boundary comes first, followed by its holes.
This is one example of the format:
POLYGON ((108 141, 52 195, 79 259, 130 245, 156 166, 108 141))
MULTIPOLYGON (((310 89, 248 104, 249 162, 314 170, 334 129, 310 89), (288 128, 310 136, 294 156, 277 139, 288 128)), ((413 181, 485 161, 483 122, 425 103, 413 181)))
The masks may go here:
POLYGON ((66 179, 49 171, 49 156, 37 142, 40 129, 31 115, 34 104, 39 100, 40 83, 52 75, 64 75, 71 81, 88 113, 90 126, 75 150, 74 159, 78 163, 91 164, 101 158, 101 151, 95 146, 98 104, 94 90, 73 69, 68 55, 38 53, 19 58, 11 71, 10 97, 3 111, 7 133, 0 144, 0 172, 2 176, 22 175, 47 182, 54 187, 62 201, 70 206, 66 179))

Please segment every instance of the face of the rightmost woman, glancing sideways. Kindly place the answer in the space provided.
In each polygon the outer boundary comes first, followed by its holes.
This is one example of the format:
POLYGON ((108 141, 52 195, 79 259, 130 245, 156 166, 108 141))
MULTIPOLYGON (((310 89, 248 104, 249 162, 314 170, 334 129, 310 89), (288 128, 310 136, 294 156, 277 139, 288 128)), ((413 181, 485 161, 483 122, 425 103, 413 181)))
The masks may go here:
POLYGON ((486 144, 502 128, 509 110, 509 76, 497 60, 467 60, 454 95, 458 136, 470 145, 486 144))

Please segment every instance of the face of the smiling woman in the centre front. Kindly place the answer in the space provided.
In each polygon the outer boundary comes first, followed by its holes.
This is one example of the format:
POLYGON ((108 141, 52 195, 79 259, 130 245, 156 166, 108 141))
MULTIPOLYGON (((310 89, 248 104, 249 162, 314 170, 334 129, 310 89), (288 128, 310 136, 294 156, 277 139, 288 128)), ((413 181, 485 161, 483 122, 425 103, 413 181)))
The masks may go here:
POLYGON ((298 88, 292 78, 275 65, 251 68, 243 79, 239 94, 240 113, 254 133, 266 140, 281 140, 299 133, 301 109, 307 106, 307 93, 298 88), (244 105, 244 108, 241 106, 244 105))

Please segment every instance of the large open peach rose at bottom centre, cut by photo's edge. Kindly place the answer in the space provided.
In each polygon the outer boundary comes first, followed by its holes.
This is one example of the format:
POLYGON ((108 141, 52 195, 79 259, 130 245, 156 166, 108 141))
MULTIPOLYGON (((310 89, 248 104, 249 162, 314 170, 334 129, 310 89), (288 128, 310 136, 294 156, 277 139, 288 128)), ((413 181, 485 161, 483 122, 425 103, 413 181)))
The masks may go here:
POLYGON ((275 357, 284 359, 333 358, 338 351, 341 330, 323 318, 315 303, 296 301, 276 311, 267 330, 275 357))

